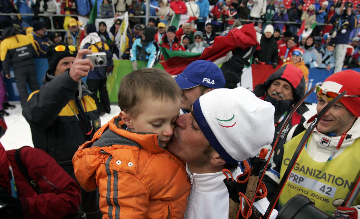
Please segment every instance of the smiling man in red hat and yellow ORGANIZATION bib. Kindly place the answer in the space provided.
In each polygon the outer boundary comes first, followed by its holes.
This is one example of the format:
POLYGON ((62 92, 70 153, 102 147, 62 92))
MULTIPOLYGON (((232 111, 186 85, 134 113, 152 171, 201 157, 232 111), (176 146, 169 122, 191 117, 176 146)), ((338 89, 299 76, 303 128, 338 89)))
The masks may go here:
MULTIPOLYGON (((291 176, 280 194, 279 204, 284 204, 298 193, 309 197, 315 206, 327 214, 356 219, 360 213, 357 207, 341 207, 337 199, 344 199, 359 171, 360 146, 360 73, 345 70, 332 74, 322 85, 316 87, 319 113, 331 100, 347 91, 330 110, 325 113, 312 131, 291 176), (344 165, 346 164, 346 165, 344 165)), ((310 112, 310 111, 309 111, 310 112)), ((276 166, 266 175, 280 182, 305 130, 316 115, 304 123, 294 126, 287 135, 285 144, 275 148, 276 166), (277 157, 277 158, 276 158, 277 157)), ((270 183, 268 183, 269 185, 270 183)), ((269 188, 270 186, 266 185, 269 188)), ((271 193, 273 191, 269 191, 271 193)), ((360 204, 357 197, 354 205, 360 204)))

